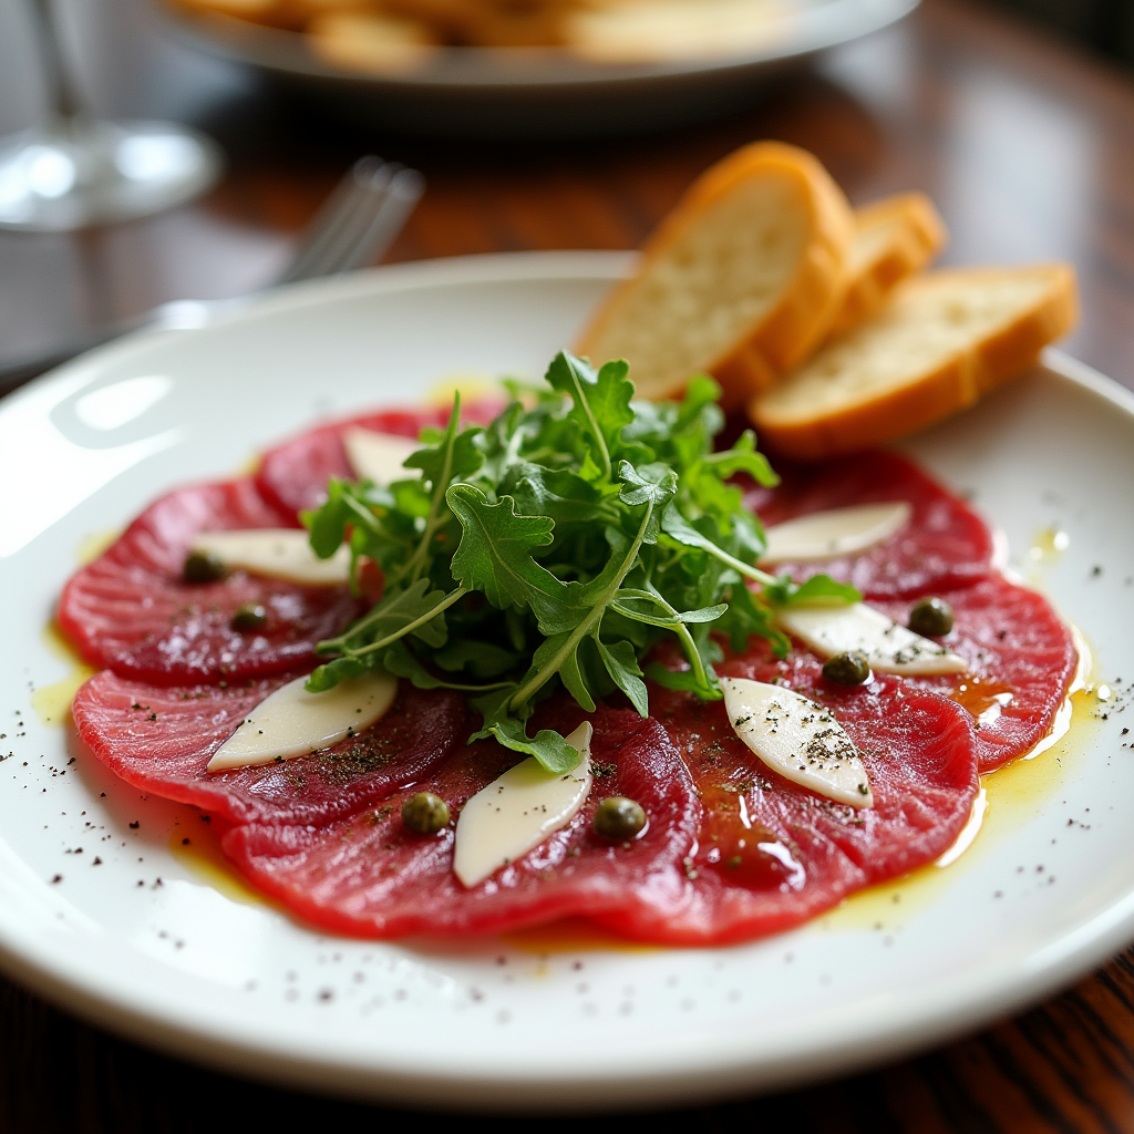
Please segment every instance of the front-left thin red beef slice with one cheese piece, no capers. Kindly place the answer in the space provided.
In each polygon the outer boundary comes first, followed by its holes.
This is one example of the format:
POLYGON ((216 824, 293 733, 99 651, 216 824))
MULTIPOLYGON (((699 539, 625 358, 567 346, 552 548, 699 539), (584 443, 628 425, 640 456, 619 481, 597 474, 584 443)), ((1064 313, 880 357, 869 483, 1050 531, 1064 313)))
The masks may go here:
POLYGON ((75 697, 79 737, 111 771, 154 795, 235 822, 328 823, 430 772, 472 720, 448 691, 403 682, 381 720, 332 748, 210 773, 248 711, 295 675, 229 685, 145 685, 103 670, 75 697))

